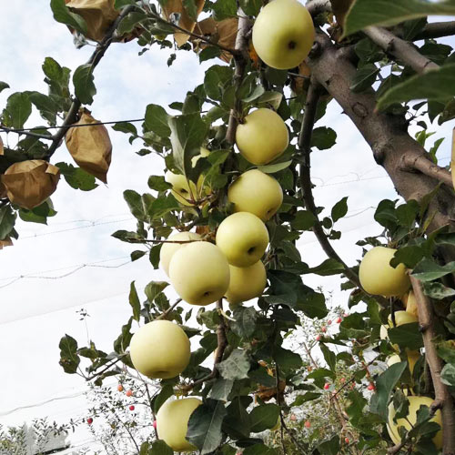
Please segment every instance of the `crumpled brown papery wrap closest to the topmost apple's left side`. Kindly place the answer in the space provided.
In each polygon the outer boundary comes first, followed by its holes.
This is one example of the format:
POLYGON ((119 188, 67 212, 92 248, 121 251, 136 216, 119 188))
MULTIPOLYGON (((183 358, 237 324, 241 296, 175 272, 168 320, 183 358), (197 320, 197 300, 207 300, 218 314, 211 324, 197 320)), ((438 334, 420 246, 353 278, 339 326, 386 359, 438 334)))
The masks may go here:
MULTIPOLYGON (((197 23, 194 31, 197 35, 204 35, 218 45, 234 49, 236 46, 238 19, 236 17, 230 17, 217 22, 213 17, 207 17, 207 19, 197 23)), ((197 38, 191 37, 190 41, 196 43, 198 40, 197 38)), ((205 49, 207 46, 207 43, 204 42, 197 43, 198 49, 205 49)), ((229 63, 232 54, 222 51, 219 58, 229 63)))

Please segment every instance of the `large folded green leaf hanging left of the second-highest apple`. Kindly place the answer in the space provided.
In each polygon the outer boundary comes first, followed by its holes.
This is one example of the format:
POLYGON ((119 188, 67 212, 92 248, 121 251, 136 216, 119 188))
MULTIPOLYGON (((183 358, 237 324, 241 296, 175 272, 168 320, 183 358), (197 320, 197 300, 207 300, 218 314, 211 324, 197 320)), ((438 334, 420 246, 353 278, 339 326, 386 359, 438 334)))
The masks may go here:
MULTIPOLYGON (((174 163, 186 177, 192 179, 195 168, 191 158, 200 154, 200 147, 207 136, 209 126, 198 114, 169 117, 174 163)), ((198 177, 198 176, 196 176, 198 177)))

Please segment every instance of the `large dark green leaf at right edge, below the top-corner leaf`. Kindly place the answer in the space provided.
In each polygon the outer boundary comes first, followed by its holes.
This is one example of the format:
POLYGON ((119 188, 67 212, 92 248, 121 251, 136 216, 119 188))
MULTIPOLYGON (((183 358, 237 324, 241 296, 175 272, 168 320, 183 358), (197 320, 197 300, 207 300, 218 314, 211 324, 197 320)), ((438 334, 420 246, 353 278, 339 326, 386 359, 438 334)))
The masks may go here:
POLYGON ((379 97, 378 109, 413 99, 447 102, 455 96, 455 64, 429 69, 390 88, 379 97))

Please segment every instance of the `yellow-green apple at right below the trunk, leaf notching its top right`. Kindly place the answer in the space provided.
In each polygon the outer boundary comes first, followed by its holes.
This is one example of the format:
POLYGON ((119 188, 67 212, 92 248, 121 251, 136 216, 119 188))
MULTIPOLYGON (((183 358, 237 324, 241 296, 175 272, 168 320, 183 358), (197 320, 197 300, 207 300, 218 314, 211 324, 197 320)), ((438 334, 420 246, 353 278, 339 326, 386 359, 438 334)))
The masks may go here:
POLYGON ((359 267, 362 288, 369 294, 384 297, 400 297, 410 288, 404 264, 392 268, 389 264, 396 249, 374 247, 363 257, 359 267))

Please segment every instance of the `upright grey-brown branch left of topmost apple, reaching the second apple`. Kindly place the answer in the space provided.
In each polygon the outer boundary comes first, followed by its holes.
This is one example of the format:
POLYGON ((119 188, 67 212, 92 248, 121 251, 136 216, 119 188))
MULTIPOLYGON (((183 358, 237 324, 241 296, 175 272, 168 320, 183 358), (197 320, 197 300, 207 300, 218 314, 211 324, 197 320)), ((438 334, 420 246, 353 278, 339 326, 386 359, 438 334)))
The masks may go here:
MULTIPOLYGON (((236 71, 234 73, 234 86, 236 89, 242 82, 245 73, 245 67, 248 62, 248 31, 249 31, 248 16, 245 15, 242 8, 238 8, 238 32, 236 36, 236 51, 238 53, 234 56, 236 63, 236 71)), ((229 122, 227 124, 226 140, 230 145, 236 142, 236 129, 238 126, 238 116, 241 111, 241 101, 236 100, 236 106, 231 109, 229 115, 229 122)))

